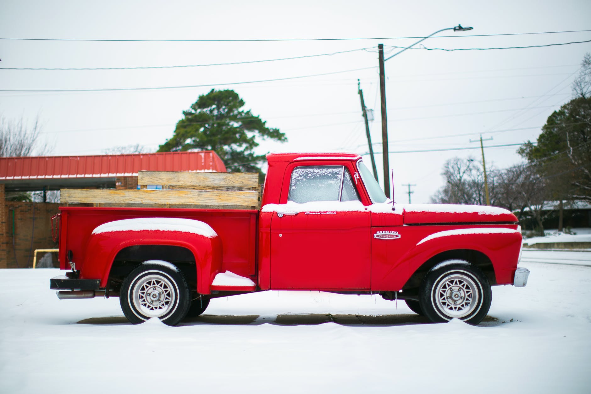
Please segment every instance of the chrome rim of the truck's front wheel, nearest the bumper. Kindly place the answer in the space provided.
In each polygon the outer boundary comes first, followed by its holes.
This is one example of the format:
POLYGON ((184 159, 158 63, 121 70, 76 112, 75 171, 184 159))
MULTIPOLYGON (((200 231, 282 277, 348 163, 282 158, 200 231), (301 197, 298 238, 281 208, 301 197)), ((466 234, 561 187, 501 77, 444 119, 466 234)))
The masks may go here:
POLYGON ((445 273, 436 283, 431 296, 444 319, 465 318, 479 308, 480 285, 467 273, 445 273))

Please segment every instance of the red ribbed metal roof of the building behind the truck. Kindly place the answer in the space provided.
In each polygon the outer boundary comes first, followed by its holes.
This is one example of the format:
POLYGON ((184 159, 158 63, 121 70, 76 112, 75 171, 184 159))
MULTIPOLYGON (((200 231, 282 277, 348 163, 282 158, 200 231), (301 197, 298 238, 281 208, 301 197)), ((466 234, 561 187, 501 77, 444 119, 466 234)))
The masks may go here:
POLYGON ((226 172, 214 151, 0 157, 0 180, 137 176, 139 170, 226 172))

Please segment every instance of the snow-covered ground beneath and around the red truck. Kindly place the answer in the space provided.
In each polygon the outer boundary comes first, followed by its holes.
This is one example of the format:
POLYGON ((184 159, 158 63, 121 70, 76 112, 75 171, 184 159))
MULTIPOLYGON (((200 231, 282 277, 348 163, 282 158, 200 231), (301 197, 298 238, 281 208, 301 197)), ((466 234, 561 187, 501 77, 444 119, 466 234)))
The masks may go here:
POLYGON ((591 267, 527 260, 528 286, 493 288, 478 327, 320 292, 220 298, 179 327, 131 325, 116 298, 57 299, 59 270, 0 270, 0 393, 588 393, 591 267))

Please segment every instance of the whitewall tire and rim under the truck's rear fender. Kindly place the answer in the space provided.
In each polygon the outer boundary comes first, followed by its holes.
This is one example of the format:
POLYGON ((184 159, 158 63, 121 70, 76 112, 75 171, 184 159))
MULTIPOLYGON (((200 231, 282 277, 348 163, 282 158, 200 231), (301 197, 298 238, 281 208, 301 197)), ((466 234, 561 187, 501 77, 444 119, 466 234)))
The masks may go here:
POLYGON ((121 285, 119 298, 125 317, 139 324, 157 317, 177 325, 186 315, 191 295, 183 273, 167 261, 148 260, 133 270, 121 285))

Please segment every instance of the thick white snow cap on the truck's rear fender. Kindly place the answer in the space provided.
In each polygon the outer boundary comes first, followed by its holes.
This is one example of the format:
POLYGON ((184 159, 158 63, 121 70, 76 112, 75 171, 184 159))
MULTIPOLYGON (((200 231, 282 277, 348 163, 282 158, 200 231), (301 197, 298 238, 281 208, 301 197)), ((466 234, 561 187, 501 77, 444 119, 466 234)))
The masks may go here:
POLYGON ((112 231, 144 230, 181 231, 203 235, 207 238, 217 237, 216 232, 213 231, 213 228, 208 224, 198 220, 181 218, 137 218, 116 220, 101 224, 92 231, 92 234, 112 231))

